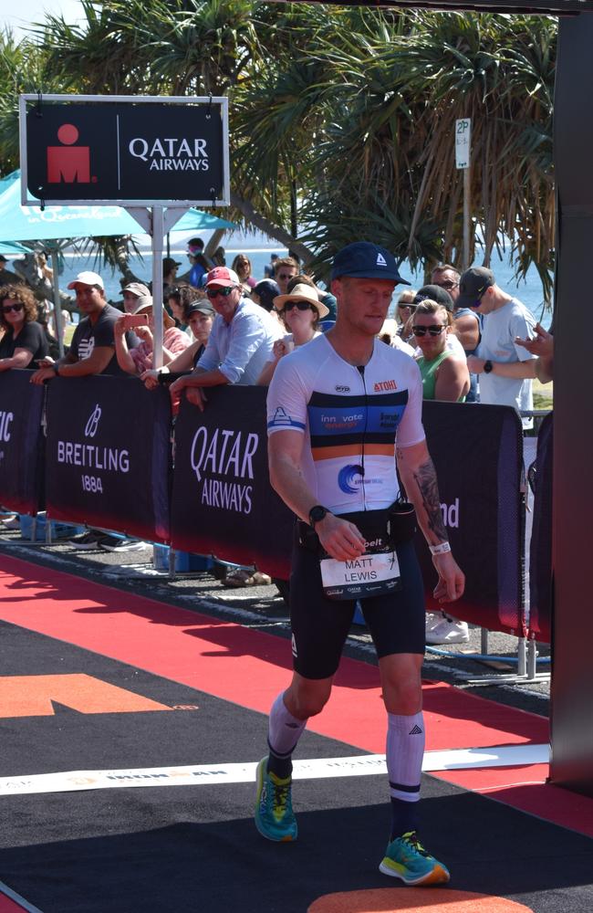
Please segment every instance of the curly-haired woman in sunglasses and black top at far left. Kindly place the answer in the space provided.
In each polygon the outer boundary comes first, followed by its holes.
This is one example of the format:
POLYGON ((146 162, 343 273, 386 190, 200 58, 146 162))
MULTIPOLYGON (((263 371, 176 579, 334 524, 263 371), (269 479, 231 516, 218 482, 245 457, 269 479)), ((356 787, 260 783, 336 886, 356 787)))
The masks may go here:
POLYGON ((0 289, 0 324, 5 330, 0 341, 0 371, 34 368, 35 362, 46 358, 45 333, 36 319, 36 299, 30 289, 24 285, 0 289))

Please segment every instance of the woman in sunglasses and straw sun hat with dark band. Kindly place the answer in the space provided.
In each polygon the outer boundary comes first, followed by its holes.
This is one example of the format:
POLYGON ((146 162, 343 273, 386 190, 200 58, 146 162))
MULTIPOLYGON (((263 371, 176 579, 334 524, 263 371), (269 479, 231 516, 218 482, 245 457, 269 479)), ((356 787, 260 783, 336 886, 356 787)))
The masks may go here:
POLYGON ((274 306, 280 320, 290 332, 274 343, 272 358, 265 365, 257 381, 260 386, 267 386, 270 383, 276 371, 276 364, 288 352, 321 335, 318 330, 319 320, 327 317, 329 313, 325 304, 318 299, 315 287, 305 283, 296 285, 287 295, 277 295, 274 306))

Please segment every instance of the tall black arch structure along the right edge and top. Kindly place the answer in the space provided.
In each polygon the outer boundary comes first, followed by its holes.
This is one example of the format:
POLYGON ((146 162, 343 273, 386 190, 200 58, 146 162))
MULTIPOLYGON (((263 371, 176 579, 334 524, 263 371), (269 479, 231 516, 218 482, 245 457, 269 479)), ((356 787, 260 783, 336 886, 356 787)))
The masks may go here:
POLYGON ((593 795, 593 408, 588 389, 593 386, 593 0, 336 0, 336 5, 559 16, 550 780, 593 795))

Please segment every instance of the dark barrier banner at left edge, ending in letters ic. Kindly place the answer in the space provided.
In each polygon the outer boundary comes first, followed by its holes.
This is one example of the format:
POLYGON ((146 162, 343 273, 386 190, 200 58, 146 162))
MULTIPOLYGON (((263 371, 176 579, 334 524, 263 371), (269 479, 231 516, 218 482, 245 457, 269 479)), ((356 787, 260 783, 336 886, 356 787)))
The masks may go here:
POLYGON ((45 391, 30 371, 0 375, 0 503, 22 514, 42 508, 45 391))

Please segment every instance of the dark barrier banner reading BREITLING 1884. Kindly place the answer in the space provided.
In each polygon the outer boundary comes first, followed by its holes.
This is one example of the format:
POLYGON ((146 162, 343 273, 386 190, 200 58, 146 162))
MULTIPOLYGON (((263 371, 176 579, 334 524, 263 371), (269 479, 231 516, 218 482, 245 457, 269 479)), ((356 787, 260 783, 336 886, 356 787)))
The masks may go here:
POLYGON ((170 398, 162 388, 148 391, 135 378, 53 380, 47 396, 49 516, 167 542, 170 425, 170 398))

